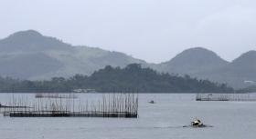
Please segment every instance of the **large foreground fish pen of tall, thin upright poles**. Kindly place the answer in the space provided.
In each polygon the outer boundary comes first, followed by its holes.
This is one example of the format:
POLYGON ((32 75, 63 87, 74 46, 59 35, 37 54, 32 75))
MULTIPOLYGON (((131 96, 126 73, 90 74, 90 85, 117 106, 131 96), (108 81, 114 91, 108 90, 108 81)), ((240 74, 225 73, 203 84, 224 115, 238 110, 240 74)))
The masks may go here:
POLYGON ((99 100, 80 100, 59 94, 59 97, 36 97, 28 102, 13 97, 2 105, 4 116, 10 117, 138 117, 138 94, 102 94, 99 100))

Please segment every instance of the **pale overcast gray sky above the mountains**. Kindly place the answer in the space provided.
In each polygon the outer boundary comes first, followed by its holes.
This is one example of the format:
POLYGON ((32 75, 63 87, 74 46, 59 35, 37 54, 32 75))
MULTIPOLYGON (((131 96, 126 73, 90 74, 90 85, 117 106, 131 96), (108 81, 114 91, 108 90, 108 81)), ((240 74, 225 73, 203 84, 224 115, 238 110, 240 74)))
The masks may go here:
POLYGON ((35 29, 160 63, 195 46, 226 60, 256 49, 255 0, 0 0, 0 38, 35 29))

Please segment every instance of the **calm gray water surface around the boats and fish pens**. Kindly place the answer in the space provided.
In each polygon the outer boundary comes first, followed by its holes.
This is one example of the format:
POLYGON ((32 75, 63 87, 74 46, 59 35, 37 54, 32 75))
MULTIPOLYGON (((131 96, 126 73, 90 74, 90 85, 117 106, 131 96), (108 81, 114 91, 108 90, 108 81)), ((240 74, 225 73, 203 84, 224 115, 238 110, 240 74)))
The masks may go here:
MULTIPOLYGON (((15 94, 35 99, 35 94, 15 94)), ((101 94, 78 94, 98 99, 101 94)), ((8 102, 12 94, 0 94, 8 102)), ((139 94, 139 118, 10 118, 0 139, 255 139, 256 102, 196 102, 195 94, 139 94), (155 100, 156 104, 148 104, 155 100), (214 127, 184 128, 194 118, 214 127)))

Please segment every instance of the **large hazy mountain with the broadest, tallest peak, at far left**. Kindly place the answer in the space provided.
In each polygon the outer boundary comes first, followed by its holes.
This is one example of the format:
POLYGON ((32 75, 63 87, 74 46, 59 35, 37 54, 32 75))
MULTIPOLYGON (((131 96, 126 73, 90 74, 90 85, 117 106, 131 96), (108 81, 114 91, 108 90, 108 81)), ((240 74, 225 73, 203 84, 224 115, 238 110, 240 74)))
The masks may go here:
POLYGON ((122 66, 144 61, 119 52, 73 46, 57 38, 28 30, 0 40, 0 75, 22 79, 92 74, 106 65, 122 66))

